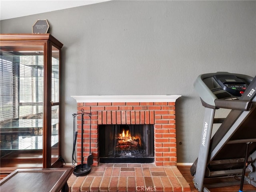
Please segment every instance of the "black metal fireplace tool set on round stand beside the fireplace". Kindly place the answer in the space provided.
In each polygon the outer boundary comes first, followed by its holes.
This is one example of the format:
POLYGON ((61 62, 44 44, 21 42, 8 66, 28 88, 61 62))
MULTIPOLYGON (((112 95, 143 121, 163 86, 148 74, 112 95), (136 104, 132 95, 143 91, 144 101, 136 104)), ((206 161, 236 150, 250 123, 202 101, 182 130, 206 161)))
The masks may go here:
POLYGON ((90 173, 91 171, 91 165, 93 164, 93 156, 91 153, 91 117, 92 117, 92 113, 90 111, 90 113, 86 113, 84 112, 84 109, 81 109, 81 113, 77 113, 77 114, 72 114, 73 115, 73 119, 74 119, 74 135, 73 135, 73 152, 72 152, 72 164, 74 165, 74 162, 76 162, 76 155, 75 155, 75 146, 76 146, 76 138, 77 138, 77 131, 76 131, 76 116, 77 115, 81 115, 81 164, 77 165, 75 167, 75 170, 73 171, 73 174, 75 176, 84 176, 90 173), (90 117, 90 154, 87 157, 87 164, 84 164, 84 155, 83 155, 83 141, 84 141, 84 115, 88 115, 90 117))

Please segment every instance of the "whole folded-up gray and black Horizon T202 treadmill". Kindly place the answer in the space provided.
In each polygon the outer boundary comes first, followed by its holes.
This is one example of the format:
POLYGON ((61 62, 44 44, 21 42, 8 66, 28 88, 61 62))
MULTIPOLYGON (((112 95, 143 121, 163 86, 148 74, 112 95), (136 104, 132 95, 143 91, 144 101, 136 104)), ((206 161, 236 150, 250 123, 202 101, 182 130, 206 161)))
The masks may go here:
POLYGON ((194 88, 205 107, 199 154, 190 168, 194 186, 199 192, 239 184, 239 192, 244 184, 256 187, 256 77, 201 74, 194 88), (230 112, 214 118, 219 108, 230 112), (220 125, 214 135, 213 124, 220 125))

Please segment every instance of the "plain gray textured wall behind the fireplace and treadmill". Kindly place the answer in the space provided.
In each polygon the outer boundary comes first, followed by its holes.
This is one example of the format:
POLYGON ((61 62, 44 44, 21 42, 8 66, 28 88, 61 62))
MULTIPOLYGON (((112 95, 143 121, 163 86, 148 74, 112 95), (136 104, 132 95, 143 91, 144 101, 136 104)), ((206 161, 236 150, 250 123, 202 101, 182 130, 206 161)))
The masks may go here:
POLYGON ((256 1, 109 1, 2 20, 0 32, 31 33, 38 19, 47 19, 49 32, 64 44, 67 163, 76 112, 72 95, 182 95, 176 103, 178 162, 192 163, 204 116, 193 89, 196 77, 256 74, 256 1))

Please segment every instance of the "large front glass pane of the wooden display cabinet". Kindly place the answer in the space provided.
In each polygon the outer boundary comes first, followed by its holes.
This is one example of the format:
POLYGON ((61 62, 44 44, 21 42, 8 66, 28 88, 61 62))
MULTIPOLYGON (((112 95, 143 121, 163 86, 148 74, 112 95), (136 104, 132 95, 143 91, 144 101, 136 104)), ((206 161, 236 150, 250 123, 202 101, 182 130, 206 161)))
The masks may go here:
POLYGON ((44 45, 1 46, 1 166, 42 166, 43 102, 44 45))

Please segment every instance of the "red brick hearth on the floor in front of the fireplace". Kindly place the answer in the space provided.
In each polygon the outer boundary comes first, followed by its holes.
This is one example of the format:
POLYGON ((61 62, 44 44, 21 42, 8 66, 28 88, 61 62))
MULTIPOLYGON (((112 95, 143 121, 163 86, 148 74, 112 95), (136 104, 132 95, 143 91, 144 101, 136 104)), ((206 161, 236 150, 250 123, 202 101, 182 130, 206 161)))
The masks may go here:
POLYGON ((151 164, 99 164, 90 174, 68 179, 70 192, 190 192, 176 166, 151 164))

